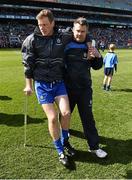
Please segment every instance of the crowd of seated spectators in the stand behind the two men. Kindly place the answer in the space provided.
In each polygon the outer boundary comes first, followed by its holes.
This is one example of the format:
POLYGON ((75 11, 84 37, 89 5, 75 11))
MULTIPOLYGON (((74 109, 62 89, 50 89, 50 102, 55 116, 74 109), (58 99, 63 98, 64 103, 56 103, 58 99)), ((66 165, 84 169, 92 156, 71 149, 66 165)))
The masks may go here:
MULTIPOLYGON (((0 47, 20 47, 24 39, 33 32, 34 27, 33 24, 18 22, 0 24, 0 47)), ((118 48, 126 48, 132 39, 132 31, 129 28, 97 28, 93 26, 90 27, 89 34, 95 39, 98 47, 103 42, 106 48, 110 43, 115 43, 118 48)))

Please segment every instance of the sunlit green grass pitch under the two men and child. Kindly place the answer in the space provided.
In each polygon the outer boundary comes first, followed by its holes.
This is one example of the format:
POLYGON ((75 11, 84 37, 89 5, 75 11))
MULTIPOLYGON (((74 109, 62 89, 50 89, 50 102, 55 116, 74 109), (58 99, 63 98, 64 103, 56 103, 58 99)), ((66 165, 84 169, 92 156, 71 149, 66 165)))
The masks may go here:
MULTIPOLYGON (((117 50, 118 72, 112 91, 101 88, 103 68, 92 70, 93 112, 105 160, 87 151, 77 109, 71 120, 71 143, 77 156, 66 169, 59 164, 47 119, 35 95, 28 98, 27 145, 24 143, 24 78, 19 50, 0 50, 0 179, 132 178, 132 50, 117 50)), ((106 51, 103 53, 103 55, 106 51)))

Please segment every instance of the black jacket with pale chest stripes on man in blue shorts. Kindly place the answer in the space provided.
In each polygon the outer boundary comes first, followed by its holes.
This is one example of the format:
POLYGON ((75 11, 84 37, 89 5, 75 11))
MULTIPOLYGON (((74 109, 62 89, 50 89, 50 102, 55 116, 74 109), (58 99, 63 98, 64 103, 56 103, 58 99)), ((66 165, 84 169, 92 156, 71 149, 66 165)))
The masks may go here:
POLYGON ((22 44, 25 76, 38 81, 63 79, 64 47, 71 40, 69 33, 55 32, 44 37, 38 28, 22 44))

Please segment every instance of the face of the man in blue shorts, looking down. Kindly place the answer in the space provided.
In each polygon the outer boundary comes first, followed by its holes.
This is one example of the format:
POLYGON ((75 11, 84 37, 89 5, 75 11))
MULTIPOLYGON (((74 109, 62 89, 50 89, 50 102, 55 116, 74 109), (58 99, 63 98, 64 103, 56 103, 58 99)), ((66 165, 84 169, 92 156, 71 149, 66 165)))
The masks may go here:
POLYGON ((38 19, 38 26, 43 36, 51 36, 53 34, 54 21, 50 22, 48 17, 38 19))

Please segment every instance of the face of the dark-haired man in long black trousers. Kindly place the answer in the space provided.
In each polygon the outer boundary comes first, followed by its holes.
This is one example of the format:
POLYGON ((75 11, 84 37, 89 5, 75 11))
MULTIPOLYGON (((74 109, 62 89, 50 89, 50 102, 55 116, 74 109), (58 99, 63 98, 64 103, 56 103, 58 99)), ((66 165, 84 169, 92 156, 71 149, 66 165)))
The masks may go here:
POLYGON ((86 39, 87 31, 87 26, 75 24, 73 27, 74 39, 77 42, 84 42, 86 39))

